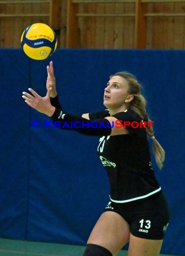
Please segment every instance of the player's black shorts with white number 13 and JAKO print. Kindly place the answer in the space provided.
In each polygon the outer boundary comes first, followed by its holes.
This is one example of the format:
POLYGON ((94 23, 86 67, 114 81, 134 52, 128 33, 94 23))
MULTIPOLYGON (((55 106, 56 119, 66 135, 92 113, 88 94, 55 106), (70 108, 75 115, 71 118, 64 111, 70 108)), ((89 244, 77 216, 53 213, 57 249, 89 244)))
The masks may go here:
POLYGON ((109 202, 106 211, 120 214, 128 222, 130 233, 139 238, 163 239, 169 223, 169 209, 161 191, 128 203, 109 202))

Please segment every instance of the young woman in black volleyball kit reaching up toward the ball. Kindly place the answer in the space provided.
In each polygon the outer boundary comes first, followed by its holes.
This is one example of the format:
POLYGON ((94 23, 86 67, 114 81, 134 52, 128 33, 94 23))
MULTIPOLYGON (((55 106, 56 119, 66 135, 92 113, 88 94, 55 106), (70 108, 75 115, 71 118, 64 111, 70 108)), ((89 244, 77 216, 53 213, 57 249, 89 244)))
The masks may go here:
POLYGON ((59 128, 68 129, 72 122, 74 131, 99 136, 98 154, 110 180, 110 202, 90 234, 84 256, 113 256, 128 242, 128 256, 158 256, 169 212, 151 166, 147 137, 153 140, 159 168, 164 150, 154 137, 140 84, 127 72, 110 76, 104 93, 107 110, 80 117, 62 109, 52 62, 47 71, 46 96, 29 88, 33 96, 23 92, 22 97, 59 128))

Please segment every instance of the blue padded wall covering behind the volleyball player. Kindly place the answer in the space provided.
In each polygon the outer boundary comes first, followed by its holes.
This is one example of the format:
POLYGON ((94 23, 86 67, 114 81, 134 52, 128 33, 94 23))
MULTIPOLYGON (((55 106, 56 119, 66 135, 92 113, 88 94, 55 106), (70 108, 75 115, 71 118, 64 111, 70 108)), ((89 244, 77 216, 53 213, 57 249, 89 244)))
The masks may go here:
POLYGON ((62 106, 72 114, 104 109, 103 92, 117 71, 136 75, 166 150, 153 165, 171 210, 162 253, 185 255, 185 51, 57 49, 34 61, 21 49, 0 49, 0 237, 84 245, 109 200, 98 137, 45 128, 49 118, 30 109, 22 91, 46 93, 53 60, 62 106), (40 128, 31 121, 39 120, 40 128))

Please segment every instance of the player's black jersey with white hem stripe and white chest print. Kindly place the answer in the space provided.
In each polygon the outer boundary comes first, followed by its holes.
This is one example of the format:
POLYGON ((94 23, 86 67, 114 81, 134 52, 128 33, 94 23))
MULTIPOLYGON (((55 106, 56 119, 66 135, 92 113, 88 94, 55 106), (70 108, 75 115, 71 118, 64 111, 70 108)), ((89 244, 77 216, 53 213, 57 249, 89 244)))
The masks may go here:
MULTIPOLYGON (((109 115, 109 111, 104 110, 90 113, 89 118, 104 118, 109 115)), ((113 116, 123 122, 142 122, 141 117, 129 109, 113 116)), ((141 127, 133 128, 130 125, 127 126, 129 134, 100 138, 97 151, 108 173, 110 199, 115 203, 143 199, 161 190, 151 165, 146 130, 144 126, 141 127)))

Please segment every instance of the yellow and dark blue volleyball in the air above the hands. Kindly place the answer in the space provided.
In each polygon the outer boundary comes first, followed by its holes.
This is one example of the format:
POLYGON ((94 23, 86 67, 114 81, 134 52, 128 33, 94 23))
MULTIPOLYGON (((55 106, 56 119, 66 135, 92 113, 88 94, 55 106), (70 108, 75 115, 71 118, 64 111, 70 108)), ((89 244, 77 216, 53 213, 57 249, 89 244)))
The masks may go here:
POLYGON ((24 53, 34 60, 44 60, 57 48, 57 36, 53 29, 44 23, 27 26, 21 36, 24 53))

